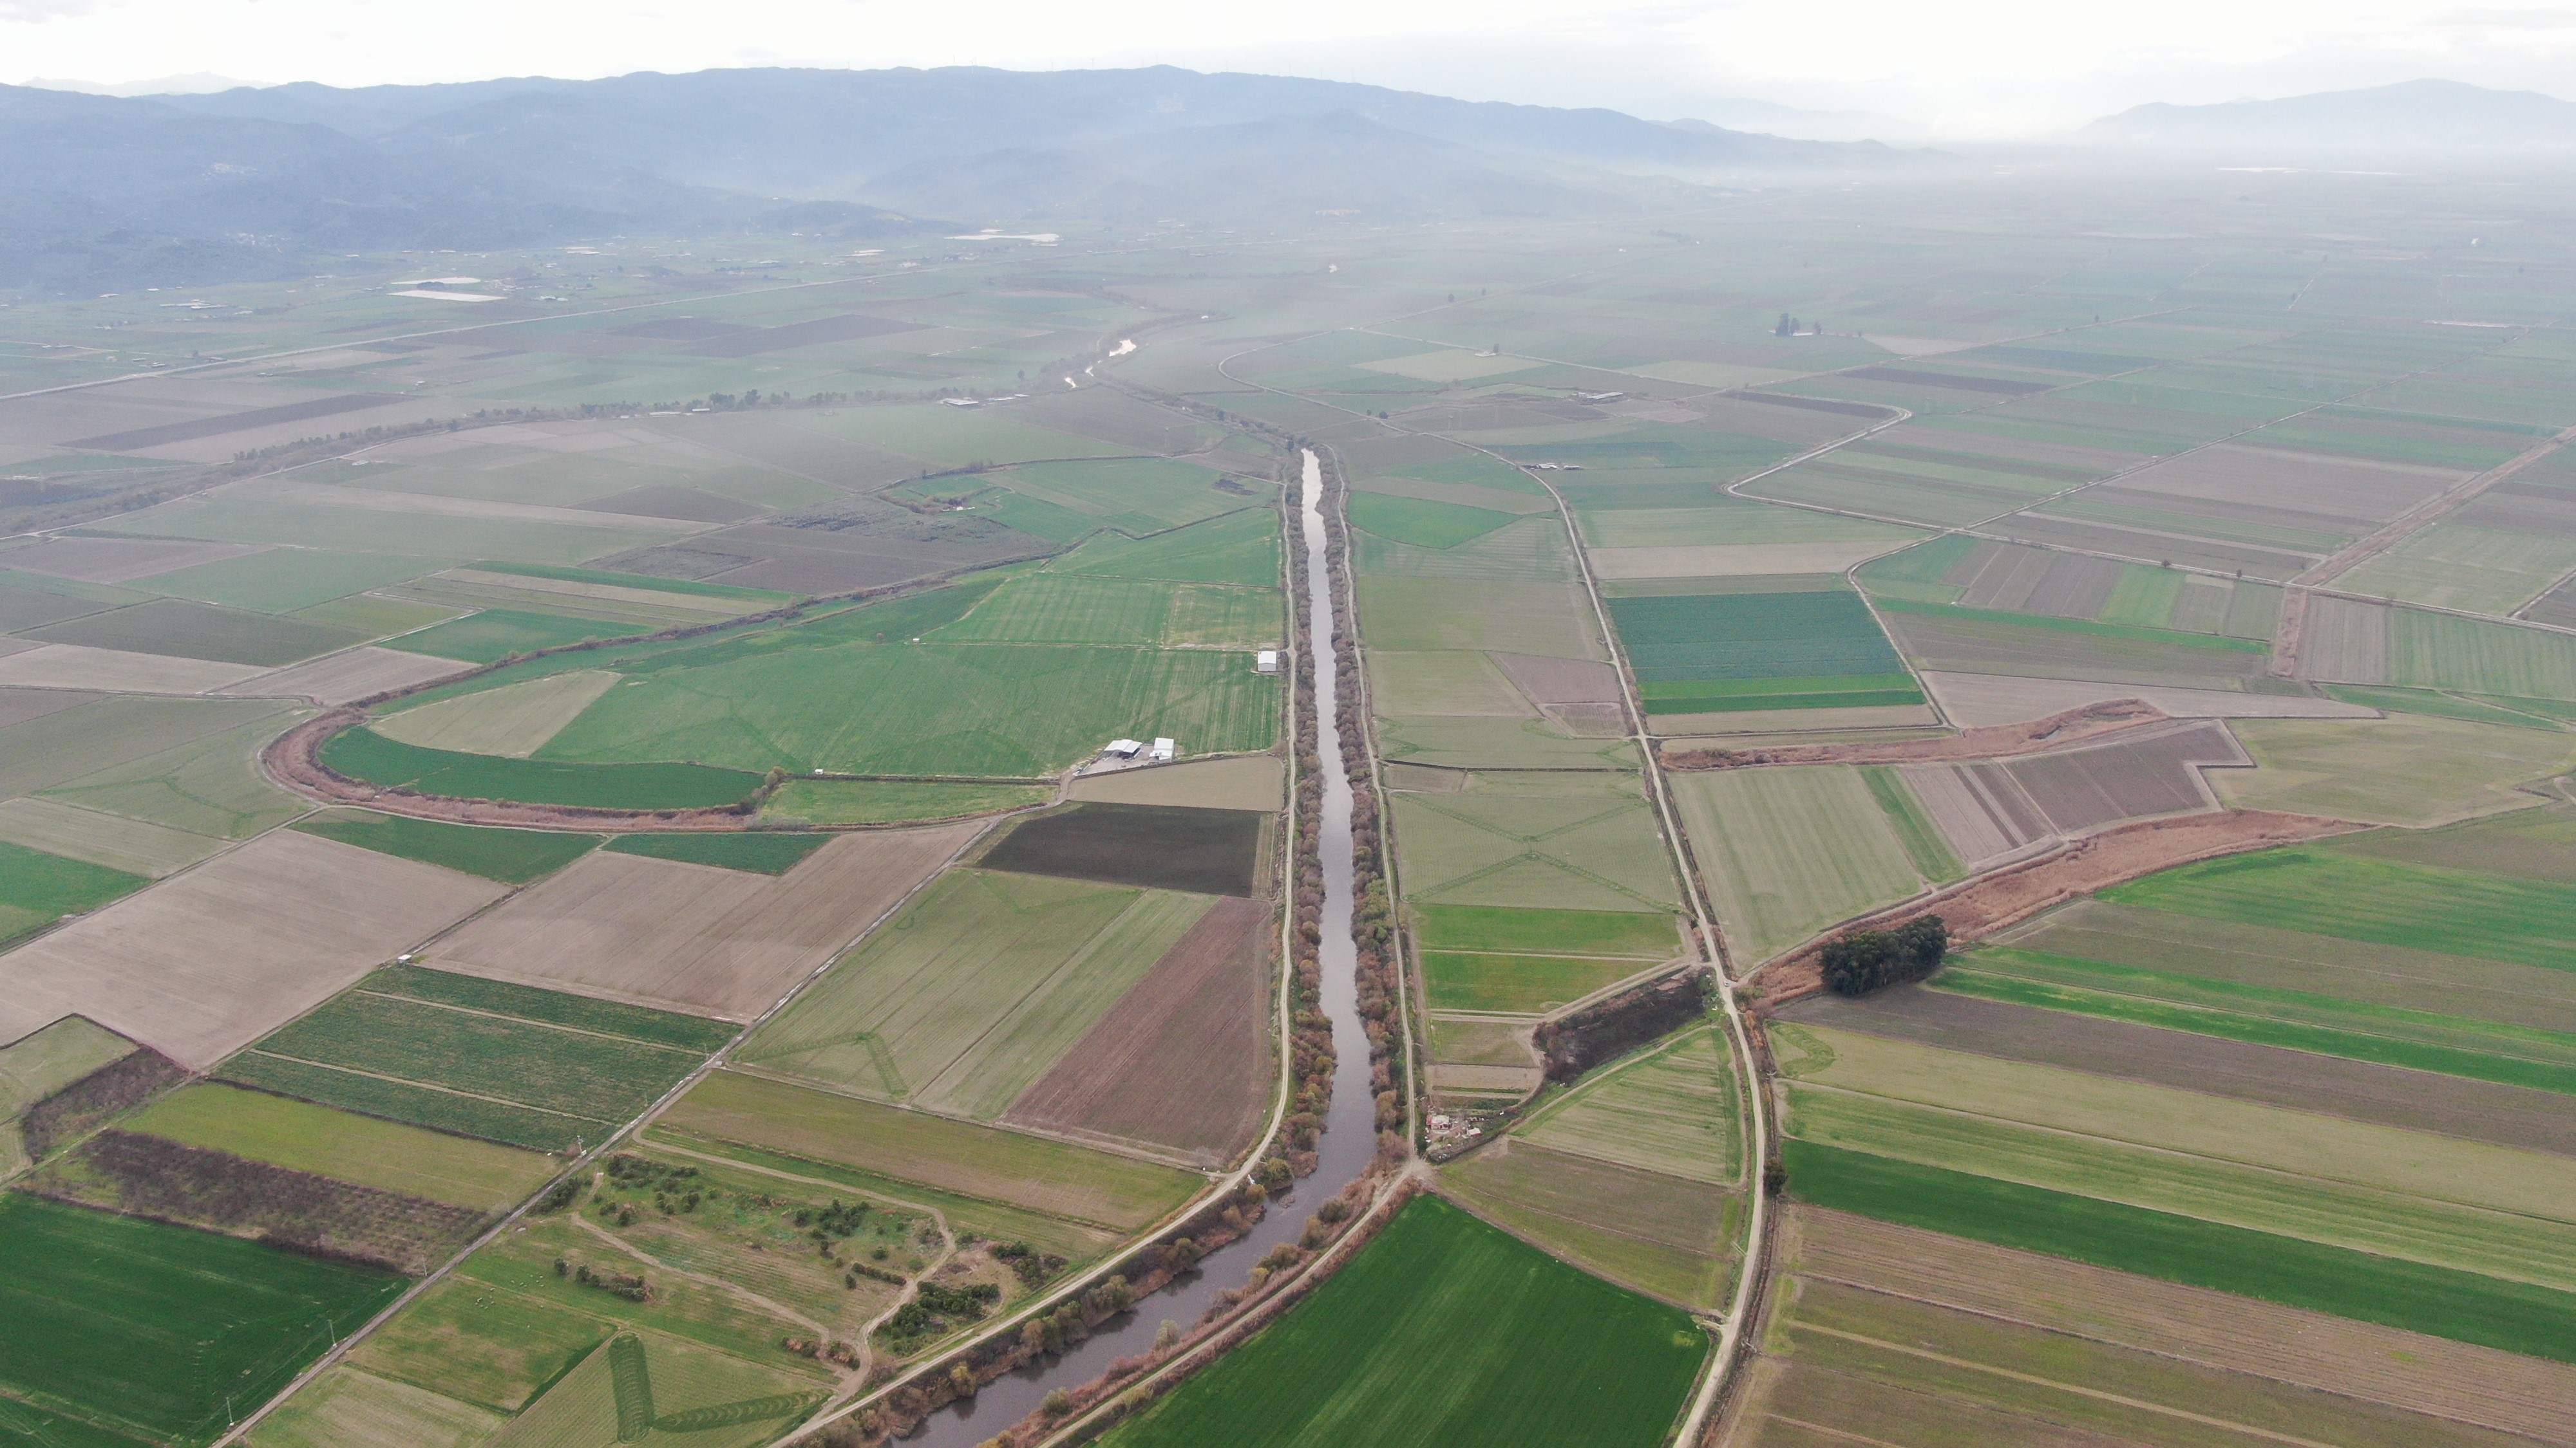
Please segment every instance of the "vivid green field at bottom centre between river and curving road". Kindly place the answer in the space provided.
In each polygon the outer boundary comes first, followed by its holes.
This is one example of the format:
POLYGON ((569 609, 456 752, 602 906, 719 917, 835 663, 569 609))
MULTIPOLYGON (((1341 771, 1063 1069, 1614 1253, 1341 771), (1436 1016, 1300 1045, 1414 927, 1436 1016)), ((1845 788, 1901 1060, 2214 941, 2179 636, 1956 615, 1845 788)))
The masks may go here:
POLYGON ((1705 1355, 1680 1309, 1417 1198, 1311 1299, 1105 1443, 1649 1448, 1705 1355))

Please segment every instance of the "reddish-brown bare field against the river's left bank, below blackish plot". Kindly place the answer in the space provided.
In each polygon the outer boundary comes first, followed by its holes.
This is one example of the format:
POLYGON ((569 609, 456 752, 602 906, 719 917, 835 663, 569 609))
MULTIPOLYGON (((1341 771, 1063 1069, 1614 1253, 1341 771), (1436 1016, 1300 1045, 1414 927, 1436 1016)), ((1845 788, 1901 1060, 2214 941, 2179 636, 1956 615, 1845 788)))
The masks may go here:
POLYGON ((1262 1126, 1273 910, 1218 899, 1002 1121, 1167 1147, 1213 1167, 1262 1126))

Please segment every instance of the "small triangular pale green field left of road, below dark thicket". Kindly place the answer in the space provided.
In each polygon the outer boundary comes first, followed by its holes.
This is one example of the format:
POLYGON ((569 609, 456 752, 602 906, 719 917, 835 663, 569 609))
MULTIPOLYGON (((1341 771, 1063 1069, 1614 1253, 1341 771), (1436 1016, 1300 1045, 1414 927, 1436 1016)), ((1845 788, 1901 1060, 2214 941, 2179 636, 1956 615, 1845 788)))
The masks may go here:
POLYGON ((1682 1036, 1556 1098, 1517 1136, 1708 1185, 1744 1175, 1736 1077, 1718 1028, 1682 1036))

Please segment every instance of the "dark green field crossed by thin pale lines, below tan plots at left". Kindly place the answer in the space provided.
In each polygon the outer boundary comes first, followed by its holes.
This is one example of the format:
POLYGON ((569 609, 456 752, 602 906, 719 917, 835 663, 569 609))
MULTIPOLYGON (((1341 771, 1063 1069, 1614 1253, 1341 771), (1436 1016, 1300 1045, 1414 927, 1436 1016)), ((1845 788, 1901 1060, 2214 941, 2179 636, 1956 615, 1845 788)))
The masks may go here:
POLYGON ((265 1036, 222 1077, 556 1152, 600 1141, 732 1036, 719 1020, 389 966, 265 1036))

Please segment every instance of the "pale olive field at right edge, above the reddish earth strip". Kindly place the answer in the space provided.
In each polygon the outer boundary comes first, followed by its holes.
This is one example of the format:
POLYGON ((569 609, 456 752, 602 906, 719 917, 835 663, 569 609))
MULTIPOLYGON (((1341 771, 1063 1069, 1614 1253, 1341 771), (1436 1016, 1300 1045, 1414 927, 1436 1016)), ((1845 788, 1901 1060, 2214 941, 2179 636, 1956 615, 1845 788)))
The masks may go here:
POLYGON ((2210 770, 2239 809, 2367 824, 2447 824, 2537 796, 2514 786, 2576 765, 2576 739, 2427 714, 2388 719, 2236 719, 2251 770, 2210 770))

